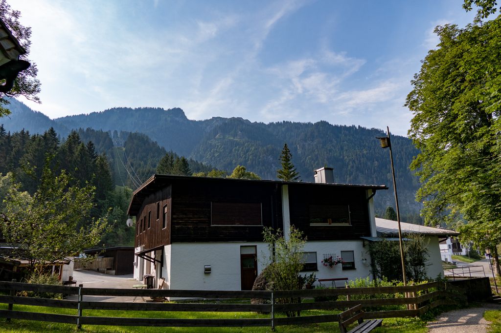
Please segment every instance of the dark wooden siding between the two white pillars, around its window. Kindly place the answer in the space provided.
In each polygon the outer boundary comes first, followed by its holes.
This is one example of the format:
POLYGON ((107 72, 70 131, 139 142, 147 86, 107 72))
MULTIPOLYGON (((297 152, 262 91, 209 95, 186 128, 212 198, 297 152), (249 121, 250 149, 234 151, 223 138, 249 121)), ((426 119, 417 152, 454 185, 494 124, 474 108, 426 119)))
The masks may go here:
POLYGON ((308 240, 360 239, 370 236, 366 189, 315 184, 289 184, 291 224, 308 240), (310 205, 349 205, 350 225, 310 225, 310 205))

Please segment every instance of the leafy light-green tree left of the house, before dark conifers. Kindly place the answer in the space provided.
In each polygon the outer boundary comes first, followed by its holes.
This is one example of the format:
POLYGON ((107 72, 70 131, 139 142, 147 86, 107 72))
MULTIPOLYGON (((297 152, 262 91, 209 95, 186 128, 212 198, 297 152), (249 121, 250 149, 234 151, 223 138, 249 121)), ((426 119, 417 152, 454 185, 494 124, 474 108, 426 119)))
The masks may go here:
POLYGON ((70 186, 71 177, 65 170, 55 176, 50 162, 48 158, 33 197, 13 181, 0 218, 13 254, 27 258, 32 272, 97 245, 107 228, 106 216, 83 223, 90 219, 95 188, 70 186))

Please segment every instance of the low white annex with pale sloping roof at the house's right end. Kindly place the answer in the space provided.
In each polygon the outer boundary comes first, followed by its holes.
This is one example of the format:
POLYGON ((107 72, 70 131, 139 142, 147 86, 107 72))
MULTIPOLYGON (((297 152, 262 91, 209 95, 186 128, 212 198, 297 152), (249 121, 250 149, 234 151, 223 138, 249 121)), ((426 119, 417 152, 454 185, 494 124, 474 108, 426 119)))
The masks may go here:
MULTIPOLYGON (((427 260, 427 275, 431 278, 436 278, 438 274, 443 276, 441 242, 444 239, 449 239, 449 236, 459 235, 459 232, 405 222, 400 222, 400 228, 402 234, 417 233, 425 236, 430 254, 427 260)), ((393 239, 398 241, 397 221, 376 217, 376 229, 378 236, 393 237, 393 239)))

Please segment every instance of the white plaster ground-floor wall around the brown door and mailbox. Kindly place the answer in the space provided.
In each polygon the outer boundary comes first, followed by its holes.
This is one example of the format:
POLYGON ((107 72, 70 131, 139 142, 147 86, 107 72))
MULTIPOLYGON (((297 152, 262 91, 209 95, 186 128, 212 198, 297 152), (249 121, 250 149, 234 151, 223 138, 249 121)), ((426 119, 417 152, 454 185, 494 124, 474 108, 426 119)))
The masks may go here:
MULTIPOLYGON (((266 266, 268 244, 263 242, 173 243, 166 264, 171 289, 240 290, 240 246, 257 245, 258 274, 266 266), (210 265, 205 274, 203 266, 210 265), (170 266, 170 267, 169 267, 170 266)), ((167 279, 166 279, 167 281, 167 279)))

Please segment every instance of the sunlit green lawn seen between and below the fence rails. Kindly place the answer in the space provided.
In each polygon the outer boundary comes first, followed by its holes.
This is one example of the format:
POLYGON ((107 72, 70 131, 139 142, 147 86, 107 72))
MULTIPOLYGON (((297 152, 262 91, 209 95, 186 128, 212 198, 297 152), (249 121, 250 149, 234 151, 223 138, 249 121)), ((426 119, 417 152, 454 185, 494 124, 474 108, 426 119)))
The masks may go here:
MULTIPOLYGON (((7 309, 7 304, 0 304, 0 309, 7 309)), ((52 308, 44 306, 14 305, 14 310, 32 311, 43 313, 76 314, 76 309, 52 308)), ((302 315, 332 314, 328 310, 302 311, 302 315)), ((84 310, 84 315, 92 316, 116 316, 116 317, 155 317, 155 318, 269 318, 268 314, 255 312, 177 312, 177 311, 122 311, 122 310, 84 310)), ((279 315, 277 315, 279 316, 279 315)), ((117 319, 119 322, 120 319, 117 319)), ((136 327, 136 326, 100 326, 83 325, 81 330, 76 324, 53 323, 44 321, 31 321, 12 319, 11 323, 6 319, 0 319, 0 332, 269 332, 270 327, 136 327)), ((304 333, 308 332, 339 332, 337 322, 327 322, 309 325, 277 326, 277 332, 304 333)), ((375 332, 426 332, 426 321, 419 318, 387 318, 383 325, 375 332)))

